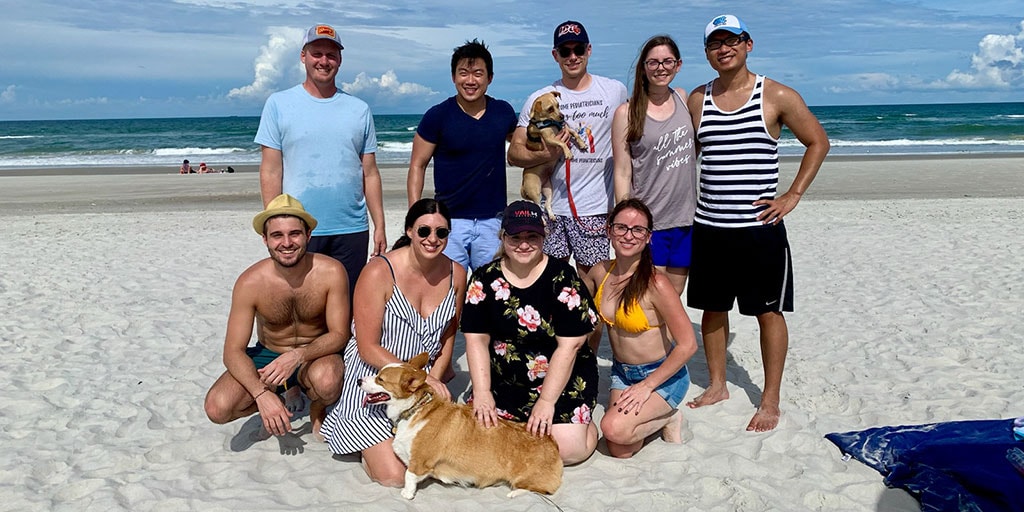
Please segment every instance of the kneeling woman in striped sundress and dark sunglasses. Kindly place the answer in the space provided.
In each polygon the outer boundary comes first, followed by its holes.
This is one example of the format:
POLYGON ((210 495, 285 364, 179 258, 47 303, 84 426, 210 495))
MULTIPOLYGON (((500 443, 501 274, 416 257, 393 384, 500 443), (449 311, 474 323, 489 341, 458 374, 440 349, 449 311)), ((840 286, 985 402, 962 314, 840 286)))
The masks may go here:
POLYGON ((383 404, 362 406, 360 377, 385 365, 430 354, 427 382, 452 399, 451 373, 459 313, 466 297, 466 270, 444 256, 452 218, 442 203, 422 199, 406 215, 406 233, 390 252, 367 263, 352 297, 355 343, 345 347, 341 399, 321 433, 335 454, 360 453, 374 481, 400 487, 406 466, 391 447, 391 421, 383 404), (391 286, 382 286, 391 283, 391 286))

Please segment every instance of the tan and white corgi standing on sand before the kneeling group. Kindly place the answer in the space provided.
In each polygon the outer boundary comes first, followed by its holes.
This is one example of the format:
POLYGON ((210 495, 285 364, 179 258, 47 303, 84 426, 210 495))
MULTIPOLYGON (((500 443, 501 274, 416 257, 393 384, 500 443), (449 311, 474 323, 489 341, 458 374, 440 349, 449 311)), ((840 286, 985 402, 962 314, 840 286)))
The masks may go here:
POLYGON ((412 500, 428 476, 444 482, 486 487, 506 481, 509 498, 552 494, 562 483, 562 460, 551 436, 535 436, 523 424, 499 420, 486 428, 464 403, 434 398, 423 368, 427 353, 391 364, 359 379, 366 403, 387 404, 394 423, 394 453, 406 463, 402 498, 412 500))

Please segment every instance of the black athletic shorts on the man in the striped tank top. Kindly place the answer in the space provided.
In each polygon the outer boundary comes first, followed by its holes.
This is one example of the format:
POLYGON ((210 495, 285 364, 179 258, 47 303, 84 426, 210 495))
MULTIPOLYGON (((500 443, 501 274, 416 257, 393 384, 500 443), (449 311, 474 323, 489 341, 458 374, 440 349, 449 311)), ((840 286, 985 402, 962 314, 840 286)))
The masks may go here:
POLYGON ((755 227, 693 223, 686 305, 756 316, 793 311, 793 258, 782 222, 755 227))

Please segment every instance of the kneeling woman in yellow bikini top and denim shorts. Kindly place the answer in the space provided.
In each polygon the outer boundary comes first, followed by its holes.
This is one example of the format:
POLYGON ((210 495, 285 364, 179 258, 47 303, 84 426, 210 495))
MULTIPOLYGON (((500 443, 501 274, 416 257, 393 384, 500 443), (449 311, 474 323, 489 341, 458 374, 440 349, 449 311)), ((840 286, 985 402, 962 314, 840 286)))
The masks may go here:
POLYGON ((658 430, 667 442, 681 442, 685 435, 679 406, 690 385, 686 361, 697 342, 679 293, 654 268, 653 225, 642 201, 620 202, 607 227, 615 259, 594 265, 584 276, 597 314, 609 326, 611 384, 601 432, 608 452, 618 458, 632 457, 658 430), (610 301, 617 302, 613 314, 610 301), (651 325, 652 314, 662 323, 651 325))

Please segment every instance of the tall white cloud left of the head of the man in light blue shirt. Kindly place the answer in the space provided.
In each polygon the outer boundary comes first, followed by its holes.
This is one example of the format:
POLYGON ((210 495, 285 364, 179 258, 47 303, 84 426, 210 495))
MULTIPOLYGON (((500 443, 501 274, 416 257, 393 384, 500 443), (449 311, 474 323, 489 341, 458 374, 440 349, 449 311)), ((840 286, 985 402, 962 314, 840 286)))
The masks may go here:
POLYGON ((255 75, 253 82, 231 89, 229 98, 266 99, 270 93, 281 88, 282 78, 290 69, 298 67, 299 46, 302 29, 292 27, 271 27, 267 30, 269 39, 260 46, 259 54, 253 61, 255 75))

